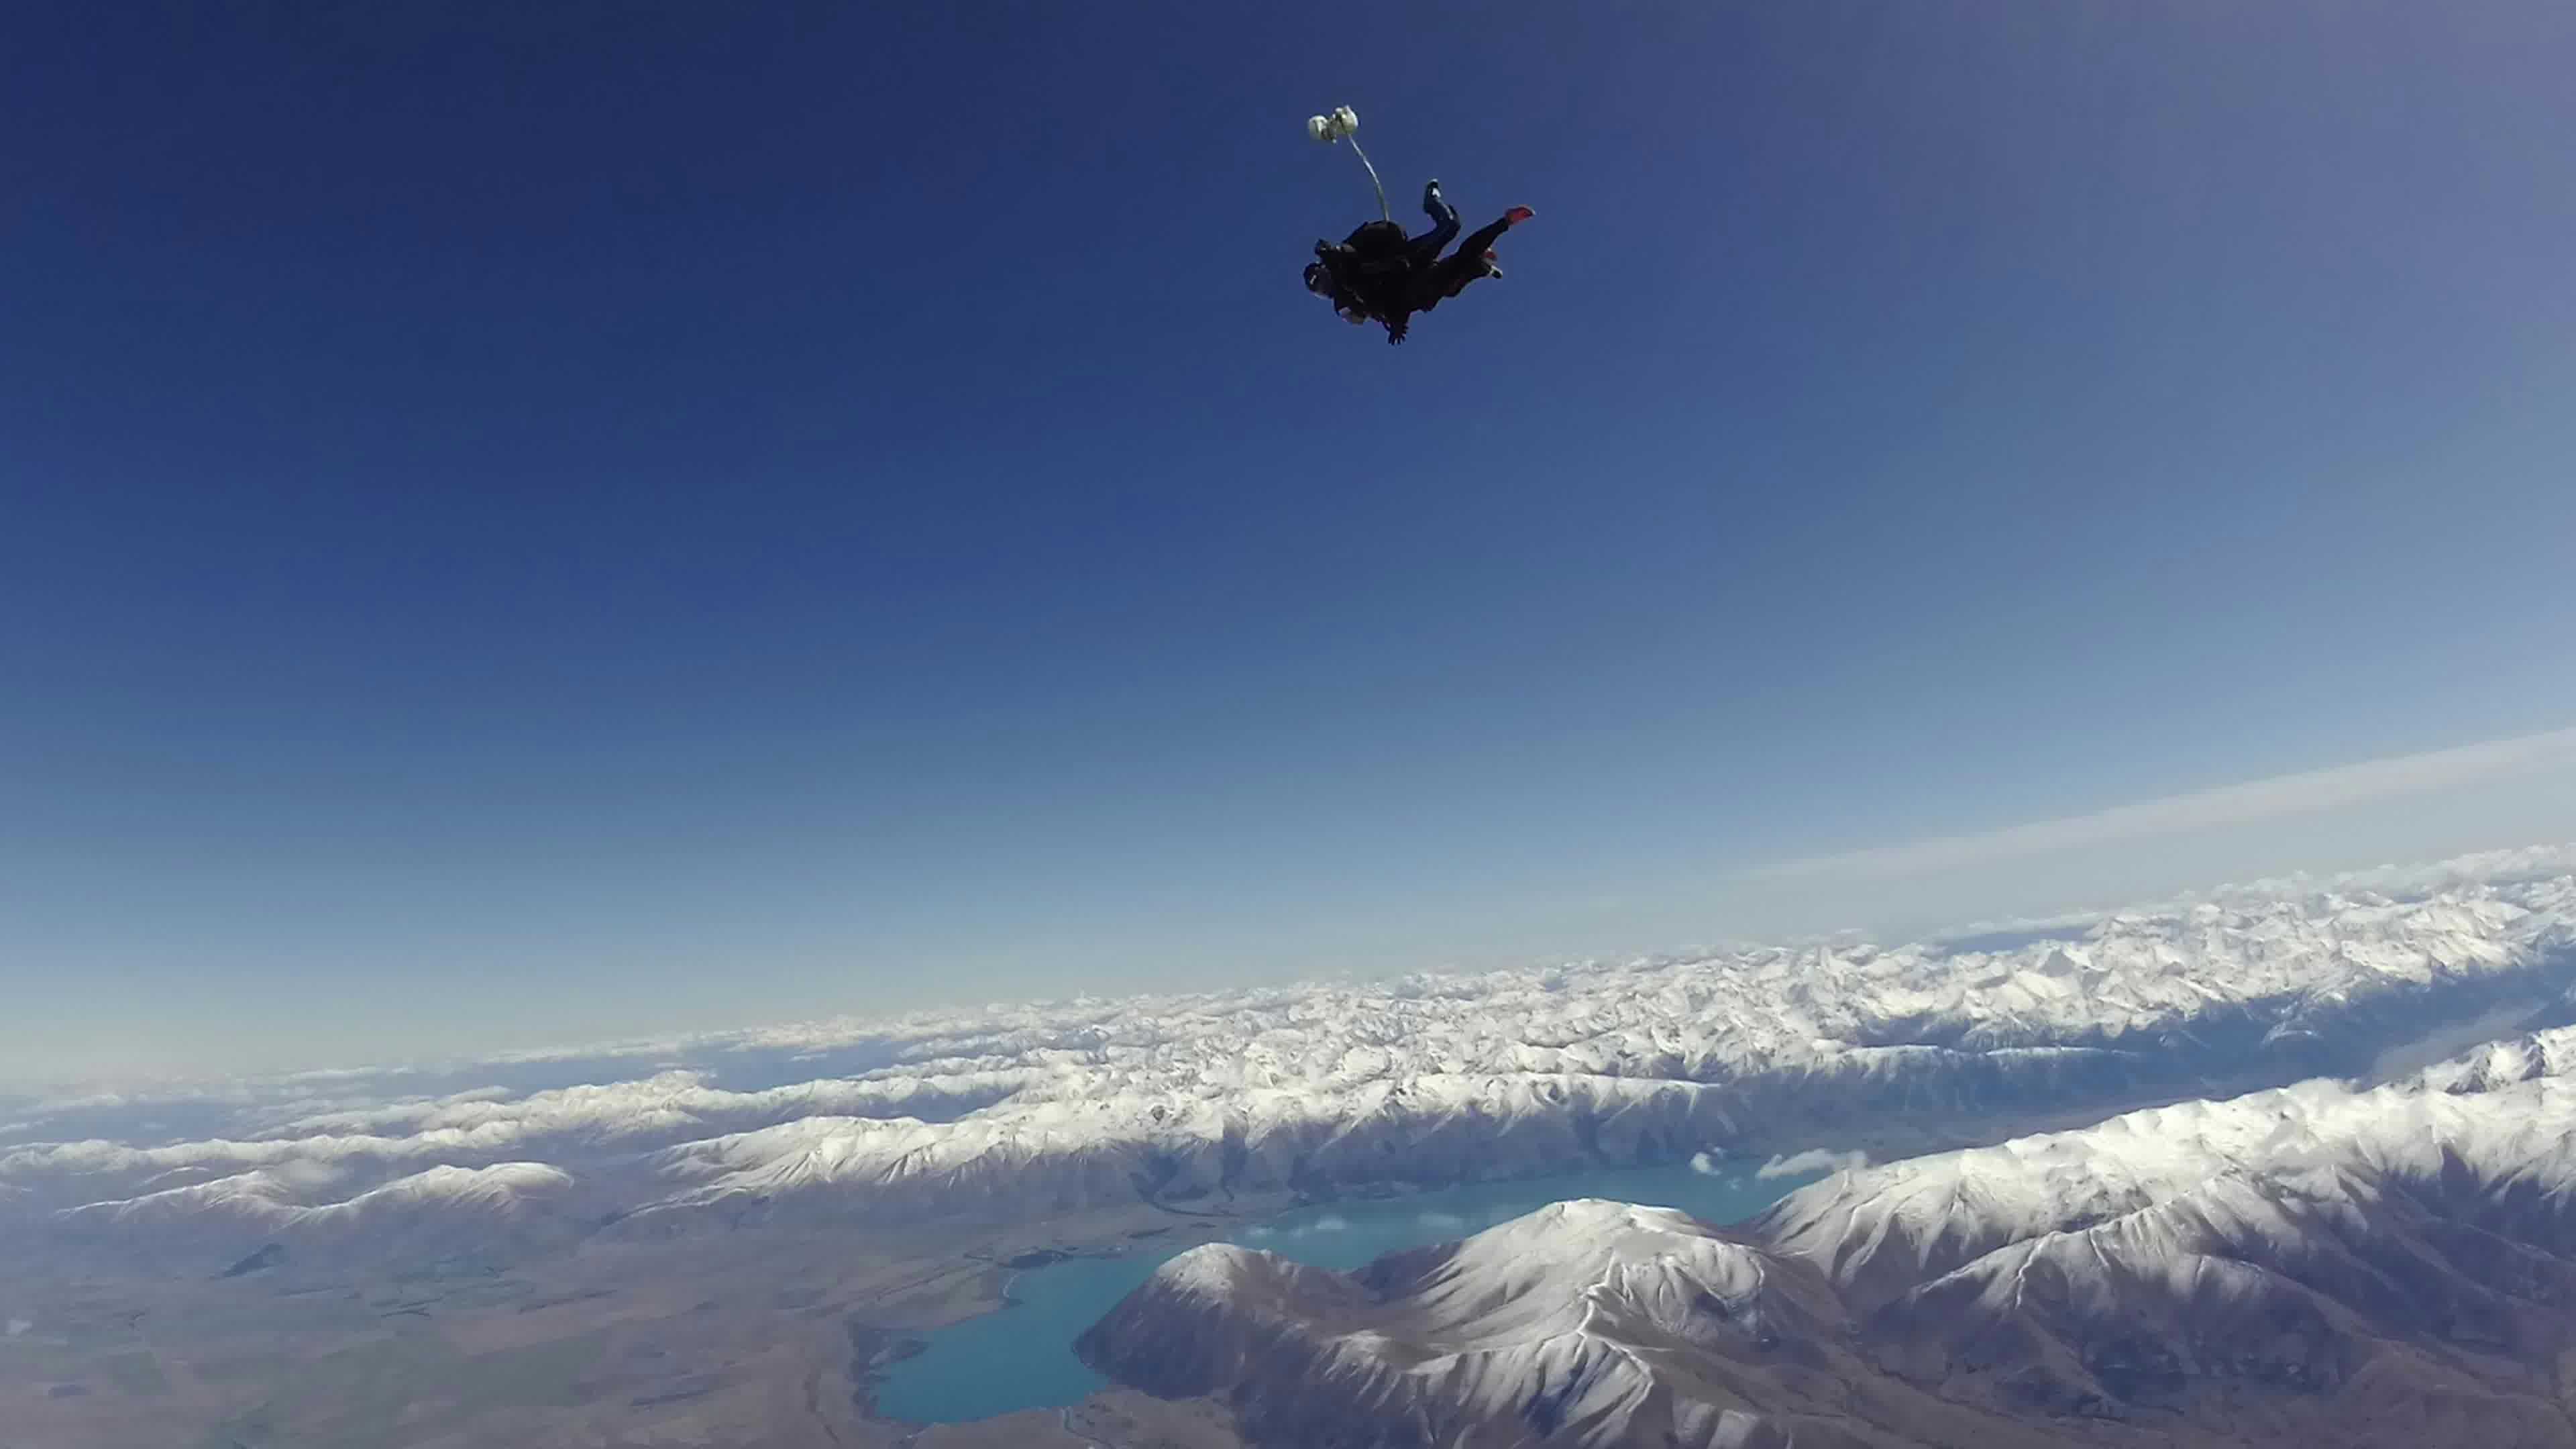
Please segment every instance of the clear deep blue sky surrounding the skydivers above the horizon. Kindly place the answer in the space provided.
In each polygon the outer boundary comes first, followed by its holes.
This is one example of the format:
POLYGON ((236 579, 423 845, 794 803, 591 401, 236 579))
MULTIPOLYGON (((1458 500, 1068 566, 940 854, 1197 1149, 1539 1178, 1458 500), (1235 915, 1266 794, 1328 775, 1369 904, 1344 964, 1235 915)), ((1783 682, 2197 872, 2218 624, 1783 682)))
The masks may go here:
POLYGON ((2561 0, 10 5, 0 1075, 2571 838, 2571 75, 2561 0), (1345 101, 1399 219, 1538 206, 1404 348, 1298 289, 1345 101))

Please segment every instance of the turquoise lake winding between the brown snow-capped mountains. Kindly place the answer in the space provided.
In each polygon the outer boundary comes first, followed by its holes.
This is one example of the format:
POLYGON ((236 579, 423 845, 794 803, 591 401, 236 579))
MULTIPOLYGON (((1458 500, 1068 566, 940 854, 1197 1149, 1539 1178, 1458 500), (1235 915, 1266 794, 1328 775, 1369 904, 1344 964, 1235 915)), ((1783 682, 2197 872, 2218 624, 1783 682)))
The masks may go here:
MULTIPOLYGON (((1473 1183, 1401 1199, 1301 1207, 1242 1227, 1231 1240, 1319 1269, 1358 1269, 1378 1253, 1450 1243, 1571 1196, 1680 1207, 1703 1222, 1741 1222, 1819 1176, 1757 1178, 1749 1163, 1723 1163, 1718 1173, 1669 1165, 1473 1183)), ((922 1336, 927 1348, 889 1364, 876 1385, 876 1413, 909 1423, 961 1423, 1082 1403, 1108 1387, 1108 1379, 1074 1359, 1074 1338, 1180 1250, 1066 1258, 1015 1274, 1010 1307, 933 1330, 922 1336)))

